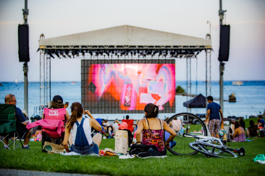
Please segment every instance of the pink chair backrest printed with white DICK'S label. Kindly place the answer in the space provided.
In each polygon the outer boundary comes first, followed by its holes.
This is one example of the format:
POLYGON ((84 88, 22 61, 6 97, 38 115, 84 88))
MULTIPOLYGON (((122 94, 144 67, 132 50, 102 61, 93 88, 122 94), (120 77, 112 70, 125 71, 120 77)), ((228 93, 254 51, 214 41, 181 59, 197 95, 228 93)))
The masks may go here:
POLYGON ((44 108, 43 119, 66 121, 66 108, 60 108, 60 109, 44 108))

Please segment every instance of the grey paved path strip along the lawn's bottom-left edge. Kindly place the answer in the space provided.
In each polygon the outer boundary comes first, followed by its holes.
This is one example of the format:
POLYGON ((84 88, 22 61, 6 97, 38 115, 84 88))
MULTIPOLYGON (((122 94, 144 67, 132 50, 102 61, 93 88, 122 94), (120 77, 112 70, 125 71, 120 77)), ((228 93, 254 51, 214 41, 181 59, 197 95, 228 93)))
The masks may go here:
POLYGON ((18 169, 0 169, 0 176, 103 176, 103 175, 89 175, 89 174, 69 174, 62 172, 43 172, 33 170, 18 170, 18 169))

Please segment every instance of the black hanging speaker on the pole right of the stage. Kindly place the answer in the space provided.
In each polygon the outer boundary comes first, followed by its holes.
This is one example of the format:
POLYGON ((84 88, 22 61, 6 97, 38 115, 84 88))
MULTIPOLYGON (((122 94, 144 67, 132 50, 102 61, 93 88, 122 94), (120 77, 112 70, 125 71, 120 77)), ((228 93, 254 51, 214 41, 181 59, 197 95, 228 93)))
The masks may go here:
POLYGON ((228 61, 229 56, 229 43, 230 43, 230 25, 220 26, 220 48, 219 48, 219 61, 228 61))

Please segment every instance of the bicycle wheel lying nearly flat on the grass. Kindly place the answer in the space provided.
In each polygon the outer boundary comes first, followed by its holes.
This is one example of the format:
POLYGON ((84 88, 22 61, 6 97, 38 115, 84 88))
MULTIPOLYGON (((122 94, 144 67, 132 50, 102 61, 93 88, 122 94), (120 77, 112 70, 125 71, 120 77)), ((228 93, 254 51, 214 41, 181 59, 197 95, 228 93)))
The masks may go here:
POLYGON ((237 155, 223 148, 214 148, 211 144, 193 142, 189 144, 190 148, 210 157, 237 158, 237 155))

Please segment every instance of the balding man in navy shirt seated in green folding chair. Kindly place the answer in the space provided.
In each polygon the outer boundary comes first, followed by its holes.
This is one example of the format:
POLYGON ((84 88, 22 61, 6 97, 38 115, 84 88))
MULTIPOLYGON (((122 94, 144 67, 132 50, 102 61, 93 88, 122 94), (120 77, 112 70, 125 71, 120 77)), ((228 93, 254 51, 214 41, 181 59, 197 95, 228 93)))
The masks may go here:
MULTIPOLYGON (((5 104, 13 104, 16 105, 16 97, 13 94, 8 94, 5 97, 5 104)), ((27 129, 26 125, 27 125, 27 119, 25 118, 25 116, 23 115, 21 109, 19 109, 18 107, 16 107, 16 114, 15 114, 15 118, 21 122, 16 122, 16 131, 19 134, 19 137, 21 138, 23 136, 23 134, 26 132, 25 136, 24 136, 24 145, 22 145, 22 149, 30 149, 29 148, 29 140, 31 137, 31 129, 27 129)), ((4 143, 6 145, 8 145, 9 143, 9 138, 5 138, 4 139, 4 143)), ((5 146, 4 146, 5 148, 5 146)))

